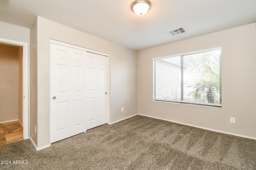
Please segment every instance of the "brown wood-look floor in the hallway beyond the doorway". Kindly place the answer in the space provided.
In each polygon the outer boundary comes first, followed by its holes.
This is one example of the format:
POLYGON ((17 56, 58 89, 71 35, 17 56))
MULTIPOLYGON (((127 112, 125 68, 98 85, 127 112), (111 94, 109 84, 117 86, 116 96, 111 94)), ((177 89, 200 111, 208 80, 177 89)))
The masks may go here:
POLYGON ((0 123, 0 146, 23 140, 23 127, 19 121, 0 123))

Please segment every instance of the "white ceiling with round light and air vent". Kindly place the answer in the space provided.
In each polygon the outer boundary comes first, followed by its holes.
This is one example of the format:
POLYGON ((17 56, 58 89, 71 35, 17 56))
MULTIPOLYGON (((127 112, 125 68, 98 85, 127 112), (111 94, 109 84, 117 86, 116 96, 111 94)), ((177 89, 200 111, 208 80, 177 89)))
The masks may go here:
POLYGON ((30 28, 41 16, 136 51, 256 22, 256 0, 150 0, 143 16, 133 1, 0 0, 0 21, 30 28))

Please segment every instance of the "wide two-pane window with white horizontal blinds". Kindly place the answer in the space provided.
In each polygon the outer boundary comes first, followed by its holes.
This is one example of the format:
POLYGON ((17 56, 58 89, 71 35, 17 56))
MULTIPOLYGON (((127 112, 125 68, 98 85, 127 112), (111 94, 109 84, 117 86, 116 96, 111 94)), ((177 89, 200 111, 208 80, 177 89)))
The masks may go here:
POLYGON ((152 60, 154 101, 221 106, 221 48, 152 60))

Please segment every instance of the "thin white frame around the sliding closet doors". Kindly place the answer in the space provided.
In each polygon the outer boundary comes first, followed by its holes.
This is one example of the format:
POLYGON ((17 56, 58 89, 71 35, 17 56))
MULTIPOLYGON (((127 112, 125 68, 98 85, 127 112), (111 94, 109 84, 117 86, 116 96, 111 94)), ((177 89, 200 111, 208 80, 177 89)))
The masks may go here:
MULTIPOLYGON (((63 46, 66 46, 66 47, 71 47, 71 48, 74 48, 74 49, 80 49, 80 50, 88 51, 88 52, 91 52, 91 53, 96 53, 96 54, 104 55, 104 56, 106 56, 108 58, 107 59, 107 61, 108 61, 108 64, 107 64, 108 65, 108 70, 107 70, 107 72, 108 72, 108 76, 107 76, 107 81, 108 81, 108 86, 107 86, 107 94, 108 94, 107 95, 107 121, 108 121, 108 124, 110 124, 110 67, 109 67, 110 66, 110 54, 103 53, 103 52, 100 52, 100 51, 91 50, 91 49, 86 49, 84 47, 79 47, 79 46, 68 44, 68 43, 63 43, 63 42, 56 41, 56 40, 53 40, 53 39, 50 39, 50 43, 49 43, 50 47, 51 47, 51 43, 58 44, 58 45, 63 45, 63 46)), ((51 51, 51 49, 50 49, 50 51, 51 51)), ((51 70, 50 70, 50 73, 51 73, 51 70)), ((51 82, 50 82, 50 84, 51 84, 51 82)), ((51 98, 50 98, 50 100, 51 100, 51 98)), ((50 120, 50 122, 51 122, 51 120, 50 120)))

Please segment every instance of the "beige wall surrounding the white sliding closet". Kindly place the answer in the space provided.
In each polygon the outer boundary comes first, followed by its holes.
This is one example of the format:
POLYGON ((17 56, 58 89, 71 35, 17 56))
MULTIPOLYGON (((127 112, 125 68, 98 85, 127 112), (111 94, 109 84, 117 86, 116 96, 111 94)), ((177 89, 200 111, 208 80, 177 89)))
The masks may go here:
MULTIPOLYGON (((33 28, 34 30, 34 28, 33 28)), ((31 36, 34 36, 34 34, 31 36)), ((31 38, 31 39, 34 39, 31 38)), ((111 43, 104 39, 66 27, 54 21, 37 18, 37 114, 32 113, 31 125, 37 124, 37 147, 50 144, 50 56, 49 39, 62 41, 87 49, 110 54, 110 122, 137 113, 137 57, 136 51, 111 43), (124 107, 124 112, 121 112, 124 107), (37 115, 37 118, 36 118, 37 115), (35 122, 37 119, 37 123, 35 122)), ((31 44, 32 41, 30 42, 31 44)), ((34 51, 34 50, 33 50, 34 51)), ((30 53, 32 58, 32 53, 30 53)), ((35 54, 33 54, 34 57, 35 54)), ((32 61, 31 61, 32 62, 32 61)), ((31 68, 32 72, 32 68, 31 68)), ((36 76, 34 76, 36 78, 36 76)), ((32 77, 31 77, 32 81, 32 77)), ((32 89, 31 93, 32 93, 32 89)), ((35 89, 34 89, 35 90, 35 89)), ((33 91, 34 91, 33 90, 33 91)), ((32 100, 32 98, 31 98, 32 100)), ((33 108, 36 107, 33 104, 33 108)), ((35 135, 34 127, 30 135, 35 135)), ((33 137, 34 140, 34 137, 33 137)))

